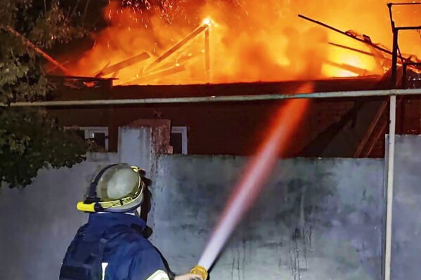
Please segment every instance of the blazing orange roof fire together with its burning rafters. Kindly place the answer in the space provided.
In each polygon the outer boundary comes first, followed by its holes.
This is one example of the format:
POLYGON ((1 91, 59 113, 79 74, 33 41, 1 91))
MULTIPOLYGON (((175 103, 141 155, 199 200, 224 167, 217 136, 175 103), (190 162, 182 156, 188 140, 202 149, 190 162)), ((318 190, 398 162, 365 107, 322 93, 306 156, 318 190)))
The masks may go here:
MULTIPOLYGON (((373 43, 392 41, 385 1, 323 1, 323 8, 313 1, 156 2, 110 1, 103 11, 108 27, 92 35, 82 55, 72 54, 70 72, 115 78, 115 85, 221 84, 383 74, 390 67, 373 43)), ((408 22, 406 15, 418 13, 413 10, 398 11, 396 21, 408 22)), ((402 51, 420 55, 414 42, 421 42, 417 32, 402 36, 402 51)))

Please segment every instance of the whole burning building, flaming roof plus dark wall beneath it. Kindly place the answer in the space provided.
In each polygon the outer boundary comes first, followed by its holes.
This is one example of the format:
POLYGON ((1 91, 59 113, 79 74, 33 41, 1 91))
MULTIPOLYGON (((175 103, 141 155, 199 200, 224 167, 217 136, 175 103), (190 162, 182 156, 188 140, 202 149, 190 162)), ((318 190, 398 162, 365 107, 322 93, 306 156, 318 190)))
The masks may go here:
MULTIPOLYGON (((375 43, 393 41, 386 1, 267 2, 110 1, 103 10, 108 27, 92 34, 91 48, 69 53, 77 59, 65 65, 66 74, 72 76, 65 81, 77 84, 77 90, 59 87, 55 98, 176 98, 419 86, 420 29, 401 32, 399 48, 375 43), (323 22, 299 18, 298 13, 323 22), (399 51, 396 62, 395 51, 399 51)), ((419 5, 399 5, 391 19, 416 27, 420 22, 413 21, 420 13, 419 5)), ((62 72, 62 67, 51 68, 51 74, 62 72)), ((117 148, 117 127, 136 119, 169 119, 188 133, 191 153, 251 154, 278 106, 260 101, 51 112, 65 126, 104 128, 111 150, 117 148)), ((382 98, 313 102, 287 155, 382 156, 386 111, 382 98)), ((418 97, 400 98, 398 133, 421 133, 420 111, 418 97)), ((176 134, 174 139, 179 139, 176 134)))

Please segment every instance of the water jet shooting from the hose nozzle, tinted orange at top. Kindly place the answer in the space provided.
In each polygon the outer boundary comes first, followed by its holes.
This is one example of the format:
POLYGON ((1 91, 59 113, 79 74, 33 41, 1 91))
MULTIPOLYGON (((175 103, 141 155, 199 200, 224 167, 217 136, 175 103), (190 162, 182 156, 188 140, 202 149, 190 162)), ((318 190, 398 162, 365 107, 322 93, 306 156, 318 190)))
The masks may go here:
POLYGON ((278 156, 285 151, 292 133, 304 116, 308 104, 308 100, 291 100, 278 110, 268 137, 259 147, 256 156, 247 165, 245 175, 235 186, 198 265, 193 267, 190 273, 207 279, 207 271, 221 253, 242 216, 259 196, 278 156))

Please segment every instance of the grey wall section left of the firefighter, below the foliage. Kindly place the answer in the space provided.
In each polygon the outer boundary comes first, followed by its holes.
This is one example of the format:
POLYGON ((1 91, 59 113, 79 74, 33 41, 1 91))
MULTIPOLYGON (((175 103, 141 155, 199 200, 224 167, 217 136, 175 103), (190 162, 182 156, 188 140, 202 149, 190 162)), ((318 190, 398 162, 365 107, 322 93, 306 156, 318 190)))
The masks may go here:
POLYGON ((0 279, 57 280, 67 246, 86 215, 76 210, 92 176, 115 154, 73 168, 43 170, 23 189, 0 194, 0 279))

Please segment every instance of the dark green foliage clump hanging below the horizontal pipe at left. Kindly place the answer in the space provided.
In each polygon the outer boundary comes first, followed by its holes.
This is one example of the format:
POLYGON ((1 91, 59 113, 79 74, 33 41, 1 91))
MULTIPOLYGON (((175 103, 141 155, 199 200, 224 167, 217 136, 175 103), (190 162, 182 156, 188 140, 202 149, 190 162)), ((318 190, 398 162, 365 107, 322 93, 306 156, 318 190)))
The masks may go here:
POLYGON ((0 178, 10 187, 30 185, 41 168, 70 168, 93 148, 39 109, 2 109, 0 124, 0 178))

